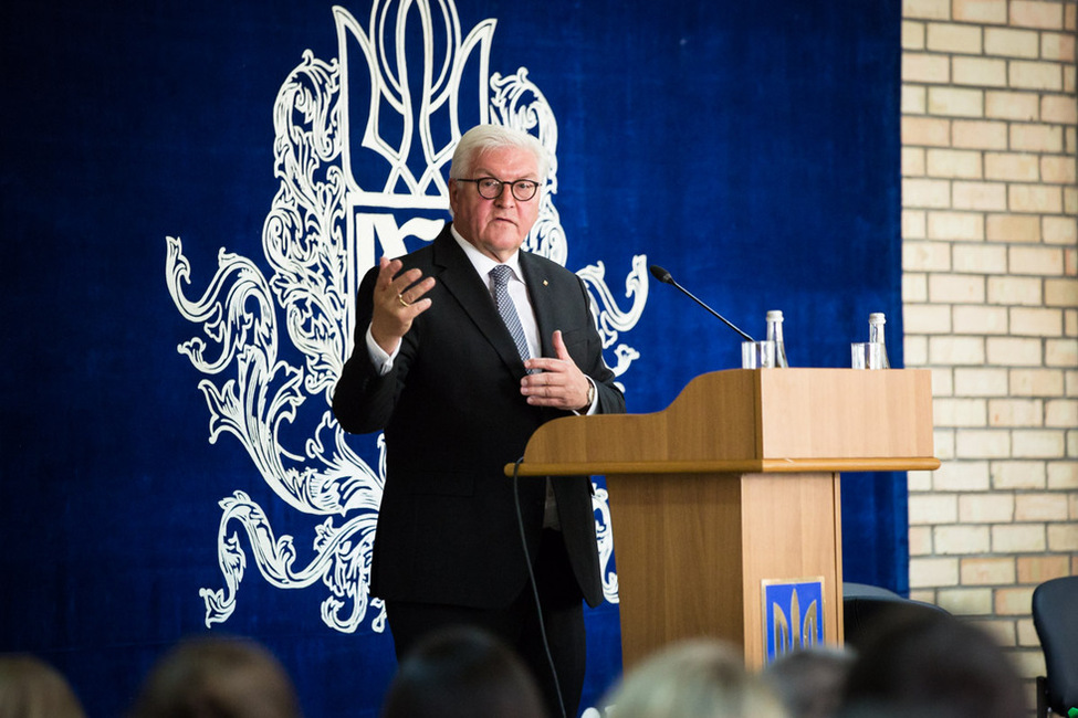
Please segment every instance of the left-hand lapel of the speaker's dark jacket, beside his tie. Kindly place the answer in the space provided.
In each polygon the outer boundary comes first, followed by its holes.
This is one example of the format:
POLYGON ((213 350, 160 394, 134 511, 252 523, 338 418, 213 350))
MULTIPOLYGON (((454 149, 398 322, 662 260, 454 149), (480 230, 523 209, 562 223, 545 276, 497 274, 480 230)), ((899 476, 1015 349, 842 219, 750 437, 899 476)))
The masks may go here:
POLYGON ((475 267, 457 244, 457 240, 450 234, 448 224, 435 240, 433 251, 435 265, 439 267, 438 282, 453 295, 463 308, 468 320, 474 324, 490 341, 505 366, 514 373, 523 376, 524 362, 516 351, 513 337, 505 328, 505 323, 498 314, 490 289, 475 273, 475 267))

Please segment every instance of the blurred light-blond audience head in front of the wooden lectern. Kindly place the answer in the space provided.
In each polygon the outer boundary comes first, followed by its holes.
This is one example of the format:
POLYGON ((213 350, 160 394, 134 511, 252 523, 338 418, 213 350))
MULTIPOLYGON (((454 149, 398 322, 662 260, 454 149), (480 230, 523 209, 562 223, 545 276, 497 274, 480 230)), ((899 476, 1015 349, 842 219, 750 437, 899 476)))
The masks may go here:
POLYGON ((606 699, 616 718, 785 718, 778 698, 732 647, 676 643, 626 674, 606 699))

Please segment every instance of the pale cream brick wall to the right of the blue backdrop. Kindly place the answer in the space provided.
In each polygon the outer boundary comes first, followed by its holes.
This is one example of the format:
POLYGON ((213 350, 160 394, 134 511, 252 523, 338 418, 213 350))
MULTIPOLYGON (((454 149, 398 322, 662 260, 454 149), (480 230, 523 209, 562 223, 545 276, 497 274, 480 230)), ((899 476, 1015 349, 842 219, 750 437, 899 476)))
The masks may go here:
POLYGON ((1075 24, 1074 0, 903 2, 906 363, 943 462, 909 477, 911 598, 1030 679, 1033 589, 1078 574, 1075 24))

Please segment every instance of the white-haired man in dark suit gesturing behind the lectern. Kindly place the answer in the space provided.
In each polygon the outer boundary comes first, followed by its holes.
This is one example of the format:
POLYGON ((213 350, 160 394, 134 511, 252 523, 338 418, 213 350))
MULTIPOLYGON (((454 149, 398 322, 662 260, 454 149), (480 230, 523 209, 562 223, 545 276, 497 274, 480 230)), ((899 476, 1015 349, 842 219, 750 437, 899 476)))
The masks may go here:
POLYGON ((360 284, 333 411, 349 432, 385 431, 371 592, 386 602, 398 659, 435 630, 479 626, 521 654, 552 710, 575 716, 582 599, 603 600, 592 483, 522 478, 514 493, 504 466, 544 422, 624 412, 625 399, 584 283, 520 251, 548 167, 526 133, 482 125, 461 137, 452 222, 430 245, 383 257, 360 284))

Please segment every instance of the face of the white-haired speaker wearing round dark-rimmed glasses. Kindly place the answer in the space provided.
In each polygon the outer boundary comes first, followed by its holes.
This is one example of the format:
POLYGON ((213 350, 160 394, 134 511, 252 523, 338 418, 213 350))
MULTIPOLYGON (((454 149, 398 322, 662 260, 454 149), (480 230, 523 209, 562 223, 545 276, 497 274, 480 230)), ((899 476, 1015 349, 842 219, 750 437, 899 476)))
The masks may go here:
MULTIPOLYGON (((501 147, 479 155, 471 177, 493 177, 504 182, 519 179, 540 181, 535 157, 525 149, 501 147)), ((522 202, 509 184, 493 200, 479 193, 475 182, 449 180, 449 204, 453 208, 453 226, 475 249, 496 262, 504 262, 520 249, 538 218, 542 192, 522 202)))

